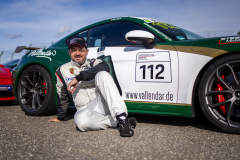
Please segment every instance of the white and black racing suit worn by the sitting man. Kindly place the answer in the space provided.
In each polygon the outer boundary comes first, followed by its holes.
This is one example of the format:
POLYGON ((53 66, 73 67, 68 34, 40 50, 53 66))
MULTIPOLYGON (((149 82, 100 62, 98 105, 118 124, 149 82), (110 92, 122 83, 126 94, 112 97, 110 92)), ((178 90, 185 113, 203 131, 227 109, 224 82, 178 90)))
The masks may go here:
POLYGON ((66 120, 72 98, 77 109, 74 121, 81 131, 116 127, 116 116, 128 113, 108 72, 109 66, 100 59, 87 59, 81 66, 73 61, 60 66, 56 71, 58 119, 66 120), (67 86, 75 77, 79 84, 70 94, 67 86))

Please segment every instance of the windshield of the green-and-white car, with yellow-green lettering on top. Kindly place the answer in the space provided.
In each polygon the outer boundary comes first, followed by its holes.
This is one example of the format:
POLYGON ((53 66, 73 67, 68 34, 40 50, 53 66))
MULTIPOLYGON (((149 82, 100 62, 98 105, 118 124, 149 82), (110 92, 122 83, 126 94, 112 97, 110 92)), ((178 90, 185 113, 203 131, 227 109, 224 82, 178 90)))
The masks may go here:
POLYGON ((158 29, 162 33, 168 35, 175 41, 183 41, 183 40, 191 40, 191 39, 203 39, 204 37, 192 33, 188 30, 182 29, 180 27, 162 22, 160 20, 145 20, 148 24, 153 26, 154 28, 158 29))

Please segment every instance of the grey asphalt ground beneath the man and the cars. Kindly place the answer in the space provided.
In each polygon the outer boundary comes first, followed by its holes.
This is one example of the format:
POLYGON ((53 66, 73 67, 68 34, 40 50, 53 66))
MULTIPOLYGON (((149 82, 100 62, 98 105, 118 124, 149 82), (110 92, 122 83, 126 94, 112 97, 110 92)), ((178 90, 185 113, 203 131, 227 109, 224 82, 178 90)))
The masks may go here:
POLYGON ((204 119, 135 116, 135 135, 118 129, 80 132, 73 121, 27 116, 18 104, 0 102, 0 159, 240 159, 240 135, 224 133, 204 119))

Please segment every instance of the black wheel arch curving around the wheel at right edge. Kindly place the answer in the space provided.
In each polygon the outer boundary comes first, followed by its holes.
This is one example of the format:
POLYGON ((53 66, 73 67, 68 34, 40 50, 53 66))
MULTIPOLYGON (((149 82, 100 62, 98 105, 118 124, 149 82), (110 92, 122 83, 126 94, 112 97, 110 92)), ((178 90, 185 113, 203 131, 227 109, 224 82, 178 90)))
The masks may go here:
POLYGON ((229 53, 226 53, 226 54, 222 54, 222 55, 219 55, 213 59, 211 59, 209 62, 207 62, 203 68, 200 70, 200 72, 198 73, 195 81, 194 81, 194 86, 193 86, 193 89, 192 89, 192 97, 191 97, 191 101, 192 101, 192 117, 195 117, 195 116, 202 116, 202 110, 200 108, 200 103, 199 103, 199 99, 198 99, 198 88, 199 88, 199 84, 200 84, 200 81, 201 81, 201 78, 203 76, 203 74, 205 73, 205 71, 207 70, 207 68, 212 64, 214 63, 215 61, 217 61, 218 59, 222 58, 222 57, 226 57, 226 56, 229 56, 229 55, 233 55, 233 54, 239 54, 240 51, 236 51, 236 52, 229 52, 229 53))

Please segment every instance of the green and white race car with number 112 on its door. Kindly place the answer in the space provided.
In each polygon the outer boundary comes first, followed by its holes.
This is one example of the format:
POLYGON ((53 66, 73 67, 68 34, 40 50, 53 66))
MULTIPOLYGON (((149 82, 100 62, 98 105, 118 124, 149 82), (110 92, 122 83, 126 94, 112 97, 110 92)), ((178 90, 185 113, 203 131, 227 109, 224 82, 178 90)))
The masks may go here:
POLYGON ((139 17, 91 24, 23 56, 12 72, 26 114, 55 111, 55 71, 70 61, 67 42, 74 36, 87 41, 88 58, 108 63, 129 112, 194 117, 202 110, 216 127, 240 133, 240 37, 204 38, 139 17))

